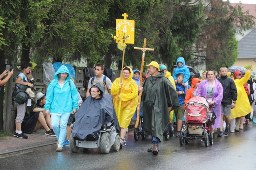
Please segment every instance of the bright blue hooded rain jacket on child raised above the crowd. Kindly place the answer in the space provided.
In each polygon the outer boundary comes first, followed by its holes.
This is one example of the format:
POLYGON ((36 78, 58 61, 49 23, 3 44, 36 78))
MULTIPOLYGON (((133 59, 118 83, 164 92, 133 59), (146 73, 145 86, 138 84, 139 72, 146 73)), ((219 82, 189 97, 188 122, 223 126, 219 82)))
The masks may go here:
POLYGON ((173 76, 173 79, 174 79, 174 80, 177 80, 177 74, 182 73, 182 74, 184 74, 184 80, 183 80, 183 82, 184 82, 184 83, 188 82, 188 79, 189 79, 189 77, 190 77, 190 71, 189 71, 189 69, 185 66, 185 60, 184 60, 184 58, 183 58, 183 57, 177 58, 176 65, 177 65, 177 68, 174 69, 174 74, 172 75, 172 76, 173 76), (181 66, 181 67, 178 66, 178 62, 182 62, 182 66, 181 66))

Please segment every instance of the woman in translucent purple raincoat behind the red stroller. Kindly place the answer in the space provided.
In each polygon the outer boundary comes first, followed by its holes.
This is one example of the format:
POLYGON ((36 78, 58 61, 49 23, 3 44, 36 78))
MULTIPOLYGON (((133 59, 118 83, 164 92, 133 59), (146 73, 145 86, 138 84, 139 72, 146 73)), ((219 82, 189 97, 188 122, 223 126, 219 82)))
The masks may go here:
POLYGON ((215 128, 221 127, 221 101, 223 98, 223 87, 221 83, 215 79, 214 70, 208 70, 206 75, 207 79, 203 80, 198 85, 196 95, 205 97, 209 105, 215 105, 214 113, 216 115, 216 119, 215 123, 210 126, 210 132, 214 132, 215 128))

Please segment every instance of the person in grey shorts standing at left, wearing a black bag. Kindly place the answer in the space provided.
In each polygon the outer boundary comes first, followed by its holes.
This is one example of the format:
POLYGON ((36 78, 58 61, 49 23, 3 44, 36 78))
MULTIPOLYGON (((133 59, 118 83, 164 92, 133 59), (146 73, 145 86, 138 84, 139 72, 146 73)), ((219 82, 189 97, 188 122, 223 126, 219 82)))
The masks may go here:
MULTIPOLYGON (((31 72, 31 67, 32 67, 31 63, 29 63, 27 61, 22 62, 21 66, 20 66, 20 68, 22 69, 22 72, 20 72, 17 75, 16 82, 15 82, 17 84, 17 86, 23 85, 23 86, 29 86, 31 88, 33 87, 33 84, 28 83, 28 79, 26 77, 26 75, 31 72)), ((22 130, 21 130, 21 125, 22 125, 22 122, 23 122, 23 119, 24 119, 24 116, 26 113, 26 108, 27 108, 27 101, 23 104, 17 103, 17 116, 15 119, 16 130, 14 133, 14 136, 17 138, 22 138, 22 139, 28 138, 28 136, 26 136, 24 133, 22 133, 22 130)))

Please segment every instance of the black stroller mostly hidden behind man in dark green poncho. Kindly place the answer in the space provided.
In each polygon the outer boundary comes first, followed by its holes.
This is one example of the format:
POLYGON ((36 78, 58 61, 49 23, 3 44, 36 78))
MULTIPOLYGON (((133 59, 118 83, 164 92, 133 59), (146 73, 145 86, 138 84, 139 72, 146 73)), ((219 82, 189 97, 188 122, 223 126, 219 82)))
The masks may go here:
MULTIPOLYGON (((142 139, 146 139, 146 135, 144 135, 144 130, 143 130, 143 117, 140 117, 140 122, 139 122, 139 127, 134 129, 134 139, 136 141, 139 140, 141 135, 142 139)), ((165 136, 165 140, 169 140, 170 139, 170 130, 169 128, 167 128, 165 130, 165 132, 163 133, 163 135, 165 136)), ((172 133, 173 135, 173 133, 172 133)), ((173 137, 173 136, 172 136, 173 137)))

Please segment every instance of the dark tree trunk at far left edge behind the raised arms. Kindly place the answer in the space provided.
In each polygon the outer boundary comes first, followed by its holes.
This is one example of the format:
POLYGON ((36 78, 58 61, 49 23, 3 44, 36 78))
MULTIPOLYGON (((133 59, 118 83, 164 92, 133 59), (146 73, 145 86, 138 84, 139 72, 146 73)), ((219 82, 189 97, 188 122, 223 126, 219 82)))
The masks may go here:
MULTIPOLYGON (((3 48, 3 47, 2 47, 3 48)), ((0 50, 0 74, 5 70, 5 55, 3 50, 0 50)), ((4 79, 4 77, 2 78, 4 79)), ((0 130, 3 130, 3 90, 4 90, 4 85, 1 86, 1 91, 0 91, 0 130)))

